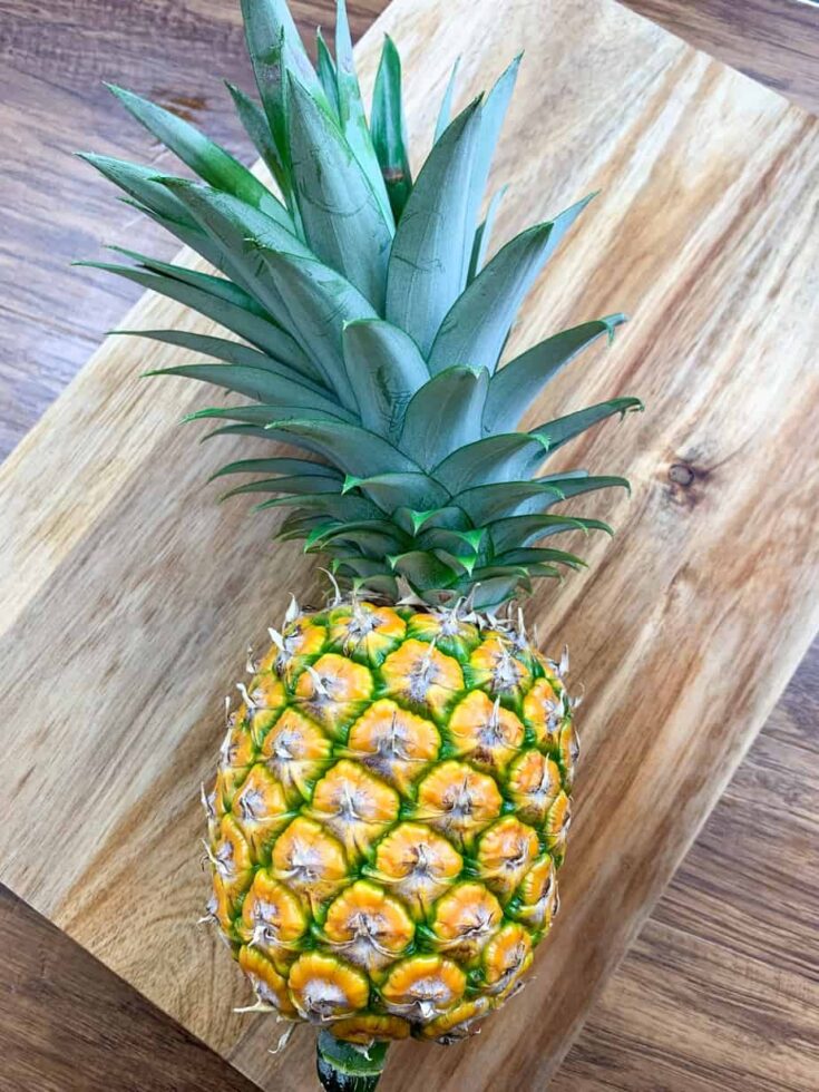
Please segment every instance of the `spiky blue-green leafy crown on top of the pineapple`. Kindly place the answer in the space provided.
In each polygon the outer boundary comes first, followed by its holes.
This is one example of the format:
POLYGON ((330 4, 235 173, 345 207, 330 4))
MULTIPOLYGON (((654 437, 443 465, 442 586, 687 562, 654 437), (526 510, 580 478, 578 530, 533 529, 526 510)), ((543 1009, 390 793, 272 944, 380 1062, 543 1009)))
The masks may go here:
POLYGON ((584 564, 542 542, 611 528, 550 509, 628 484, 585 470, 543 475, 544 464, 591 426, 642 406, 615 398, 516 430, 544 384, 625 321, 585 322, 499 367, 521 301, 594 196, 487 261, 504 191, 482 220, 479 213, 519 58, 450 120, 452 72, 413 179, 401 65, 389 38, 368 123, 343 0, 335 56, 319 31, 316 68, 283 0, 242 0, 242 11, 261 105, 228 89, 277 194, 194 126, 118 87, 111 90, 124 106, 202 181, 85 156, 127 203, 217 271, 130 251, 120 253, 136 265, 82 263, 169 296, 241 339, 138 331, 211 358, 162 374, 251 400, 185 420, 230 422, 209 436, 296 449, 231 462, 214 477, 253 475, 226 496, 269 495, 257 509, 292 508, 279 537, 330 555, 353 591, 396 598, 409 584, 426 603, 470 596, 485 610, 530 591, 533 577, 584 564))

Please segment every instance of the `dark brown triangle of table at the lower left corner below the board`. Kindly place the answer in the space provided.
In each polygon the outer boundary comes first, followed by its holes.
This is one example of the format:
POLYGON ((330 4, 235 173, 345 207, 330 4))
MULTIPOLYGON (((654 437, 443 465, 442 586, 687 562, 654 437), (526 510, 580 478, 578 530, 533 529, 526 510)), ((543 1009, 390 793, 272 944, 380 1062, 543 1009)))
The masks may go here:
POLYGON ((0 950, 6 1092, 256 1088, 2 886, 0 950))

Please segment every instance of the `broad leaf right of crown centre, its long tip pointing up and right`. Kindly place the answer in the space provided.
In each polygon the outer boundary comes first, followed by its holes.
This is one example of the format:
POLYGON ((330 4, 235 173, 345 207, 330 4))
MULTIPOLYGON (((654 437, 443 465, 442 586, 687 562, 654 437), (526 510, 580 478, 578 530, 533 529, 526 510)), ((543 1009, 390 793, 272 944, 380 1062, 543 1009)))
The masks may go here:
POLYGON ((431 372, 468 360, 494 372, 513 320, 557 244, 594 194, 554 221, 536 224, 501 247, 443 319, 429 354, 431 372))

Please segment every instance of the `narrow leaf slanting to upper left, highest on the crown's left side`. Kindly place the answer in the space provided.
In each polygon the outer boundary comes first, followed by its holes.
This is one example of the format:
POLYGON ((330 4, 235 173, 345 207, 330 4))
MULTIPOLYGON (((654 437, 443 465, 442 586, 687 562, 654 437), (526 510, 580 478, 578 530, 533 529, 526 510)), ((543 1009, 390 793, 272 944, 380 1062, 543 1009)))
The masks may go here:
POLYGON ((133 117, 169 148, 183 163, 215 189, 224 189, 277 220, 290 231, 293 222, 282 203, 247 167, 243 166, 218 144, 214 144, 189 121, 150 103, 140 95, 114 84, 106 87, 133 117))

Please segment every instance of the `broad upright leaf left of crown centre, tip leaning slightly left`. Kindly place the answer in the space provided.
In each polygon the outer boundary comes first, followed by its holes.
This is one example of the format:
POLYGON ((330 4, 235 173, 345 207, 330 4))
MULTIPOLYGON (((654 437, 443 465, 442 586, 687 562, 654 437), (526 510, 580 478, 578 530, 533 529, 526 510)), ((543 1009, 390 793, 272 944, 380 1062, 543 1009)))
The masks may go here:
POLYGON ((338 125, 295 80, 291 106, 291 169, 305 238, 380 312, 392 233, 372 185, 338 125))

